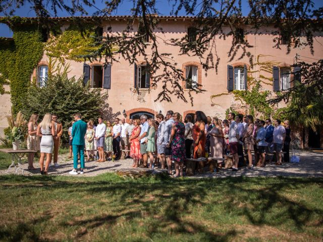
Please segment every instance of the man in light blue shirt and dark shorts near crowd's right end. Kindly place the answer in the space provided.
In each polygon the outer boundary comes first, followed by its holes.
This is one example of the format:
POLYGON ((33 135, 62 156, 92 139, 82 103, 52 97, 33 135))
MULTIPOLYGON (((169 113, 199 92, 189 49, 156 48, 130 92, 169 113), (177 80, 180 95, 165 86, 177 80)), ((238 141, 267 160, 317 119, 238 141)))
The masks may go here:
POLYGON ((282 149, 286 138, 285 127, 281 125, 282 121, 280 119, 275 120, 274 128, 274 152, 276 152, 276 165, 282 164, 282 149))

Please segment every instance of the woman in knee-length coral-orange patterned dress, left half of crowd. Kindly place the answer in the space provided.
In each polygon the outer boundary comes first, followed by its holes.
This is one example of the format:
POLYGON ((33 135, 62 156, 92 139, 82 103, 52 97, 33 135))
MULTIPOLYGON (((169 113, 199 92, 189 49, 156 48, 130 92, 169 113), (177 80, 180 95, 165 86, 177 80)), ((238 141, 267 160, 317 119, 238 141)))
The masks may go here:
POLYGON ((133 164, 132 167, 138 168, 139 167, 139 160, 141 159, 141 153, 140 153, 140 143, 138 140, 138 136, 140 134, 141 128, 140 128, 140 120, 135 119, 133 120, 135 127, 133 128, 131 132, 131 136, 129 138, 130 142, 130 156, 133 158, 133 164))

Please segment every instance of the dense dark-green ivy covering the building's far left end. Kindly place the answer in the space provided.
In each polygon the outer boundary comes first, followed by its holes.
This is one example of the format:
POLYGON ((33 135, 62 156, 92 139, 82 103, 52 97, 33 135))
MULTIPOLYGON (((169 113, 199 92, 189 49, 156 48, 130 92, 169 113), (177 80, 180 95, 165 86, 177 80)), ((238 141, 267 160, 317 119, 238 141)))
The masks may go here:
MULTIPOLYGON (((7 23, 2 19, 2 23, 7 23)), ((14 17, 10 22, 12 39, 0 39, 0 82, 9 80, 13 113, 24 106, 33 70, 43 55, 41 27, 24 24, 24 18, 14 17), (20 21, 19 21, 20 20, 20 21)))

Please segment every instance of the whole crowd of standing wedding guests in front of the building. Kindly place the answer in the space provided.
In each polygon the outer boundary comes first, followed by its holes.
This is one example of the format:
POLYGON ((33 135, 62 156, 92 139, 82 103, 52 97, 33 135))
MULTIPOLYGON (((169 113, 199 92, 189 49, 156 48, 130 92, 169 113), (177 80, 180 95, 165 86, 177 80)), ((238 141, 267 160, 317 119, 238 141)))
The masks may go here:
MULTIPOLYGON (((57 122, 57 115, 46 113, 40 124, 38 116, 33 114, 28 123, 28 149, 40 148, 40 170, 47 174, 51 164, 53 152, 53 165, 58 164, 58 147, 62 125, 57 122), (41 137, 39 143, 38 137, 41 137), (44 166, 44 158, 46 163, 44 166)), ((78 174, 78 160, 80 160, 80 173, 84 173, 85 155, 87 161, 96 162, 106 160, 119 160, 121 151, 125 158, 133 159, 133 168, 167 168, 172 174, 172 164, 175 165, 175 175, 183 176, 183 166, 186 159, 200 157, 218 158, 217 166, 221 167, 225 155, 232 156, 231 170, 246 165, 248 168, 265 166, 268 161, 282 164, 282 150, 285 162, 289 162, 290 127, 288 120, 276 119, 275 126, 271 119, 259 120, 252 115, 242 115, 230 112, 228 119, 206 116, 202 111, 185 116, 172 110, 166 115, 157 114, 155 119, 141 115, 140 119, 115 118, 104 122, 98 117, 97 126, 93 121, 85 123, 79 113, 74 115, 72 126, 68 130, 70 154, 74 159, 74 167, 70 174, 78 174), (267 155, 265 155, 267 154, 267 155), (254 159, 253 159, 254 156, 254 159)), ((28 157, 28 169, 32 165, 33 154, 28 157)), ((202 171, 203 162, 196 162, 196 169, 202 171)), ((210 162, 210 170, 214 164, 210 162)))

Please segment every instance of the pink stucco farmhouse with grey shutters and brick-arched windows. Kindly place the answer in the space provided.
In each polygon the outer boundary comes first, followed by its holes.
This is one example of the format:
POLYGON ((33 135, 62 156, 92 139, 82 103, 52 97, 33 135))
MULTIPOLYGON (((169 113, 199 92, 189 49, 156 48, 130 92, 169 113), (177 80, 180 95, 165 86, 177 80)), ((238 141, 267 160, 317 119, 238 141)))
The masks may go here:
MULTIPOLYGON (((88 18, 91 17, 82 17, 88 18)), ((121 32, 125 29, 127 18, 129 16, 114 16, 104 19, 102 22, 102 35, 104 36, 108 28, 111 28, 113 32, 121 32)), ((171 38, 182 38, 189 31, 191 31, 192 23, 194 23, 194 17, 173 17, 173 16, 156 16, 159 19, 159 26, 164 30, 164 33, 157 31, 154 34, 163 40, 171 38)), ((69 18, 53 18, 53 20, 60 21, 62 24, 62 30, 69 26, 69 18)), ((230 31, 229 27, 225 31, 230 31)), ((126 118, 136 118, 141 114, 147 114, 148 117, 154 116, 157 113, 165 114, 167 110, 173 110, 181 113, 183 117, 186 114, 194 113, 197 110, 202 110, 206 115, 211 117, 218 116, 219 118, 225 118, 226 109, 234 107, 236 110, 245 113, 245 109, 241 107, 239 101, 235 101, 234 96, 230 95, 232 90, 244 90, 248 88, 247 76, 253 75, 258 78, 260 75, 264 75, 268 78, 273 78, 272 83, 263 84, 264 89, 271 91, 286 90, 293 82, 298 78, 294 75, 297 72, 291 66, 296 63, 296 56, 304 56, 311 58, 323 57, 323 36, 321 33, 317 33, 313 42, 314 55, 311 54, 308 46, 300 48, 292 48, 287 53, 287 42, 283 39, 280 48, 276 48, 274 39, 280 33, 277 33, 277 29, 274 26, 267 26, 259 29, 255 32, 251 26, 241 24, 239 30, 243 35, 243 38, 247 39, 252 46, 247 49, 253 56, 254 62, 258 55, 262 55, 262 61, 273 61, 277 65, 273 66, 273 74, 257 71, 257 66, 251 70, 249 64, 249 58, 247 56, 239 59, 241 52, 238 51, 235 59, 230 61, 228 52, 232 45, 232 37, 226 39, 216 39, 217 54, 220 56, 220 63, 218 66, 218 72, 215 69, 210 69, 207 72, 202 69, 200 60, 198 57, 185 56, 179 54, 179 48, 165 44, 160 41, 160 52, 172 53, 174 56, 174 63, 178 64, 178 68, 183 71, 183 75, 186 78, 192 80, 193 84, 198 83, 201 88, 205 90, 203 93, 192 93, 193 106, 190 103, 188 91, 192 86, 183 82, 184 96, 188 102, 184 102, 181 99, 172 97, 172 102, 159 102, 154 101, 161 91, 161 84, 157 84, 156 88, 151 88, 151 78, 148 73, 145 72, 146 64, 140 56, 137 59, 135 65, 130 65, 126 59, 120 58, 119 62, 114 62, 112 65, 107 65, 103 68, 104 61, 95 62, 75 62, 69 61, 71 72, 69 76, 75 76, 76 78, 84 77, 84 82, 90 82, 93 88, 101 88, 102 92, 109 92, 109 107, 112 115, 126 118), (249 71, 253 73, 250 74, 249 71), (229 95, 222 95, 215 99, 211 99, 211 95, 227 93, 229 95)), ((304 42, 306 37, 304 38, 304 42)), ((194 41, 194 38, 192 38, 194 41)), ((147 39, 149 45, 149 39, 147 39)), ((149 46, 147 48, 149 54, 149 46)), ((308 60, 308 63, 313 62, 312 59, 304 58, 308 60)), ((45 85, 45 80, 48 72, 48 57, 44 52, 38 66, 35 68, 31 80, 36 78, 38 85, 45 85)), ((6 87, 8 90, 8 87, 6 87)), ((11 102, 10 95, 5 94, 0 96, 0 135, 3 133, 3 129, 7 127, 6 116, 10 114, 11 102)), ((284 105, 284 104, 282 104, 284 105)), ((310 130, 305 130, 301 133, 303 137, 304 146, 322 147, 323 145, 323 129, 320 132, 314 134, 310 130), (310 138, 310 139, 308 139, 310 138), (313 144, 308 140, 315 139, 313 144)))

